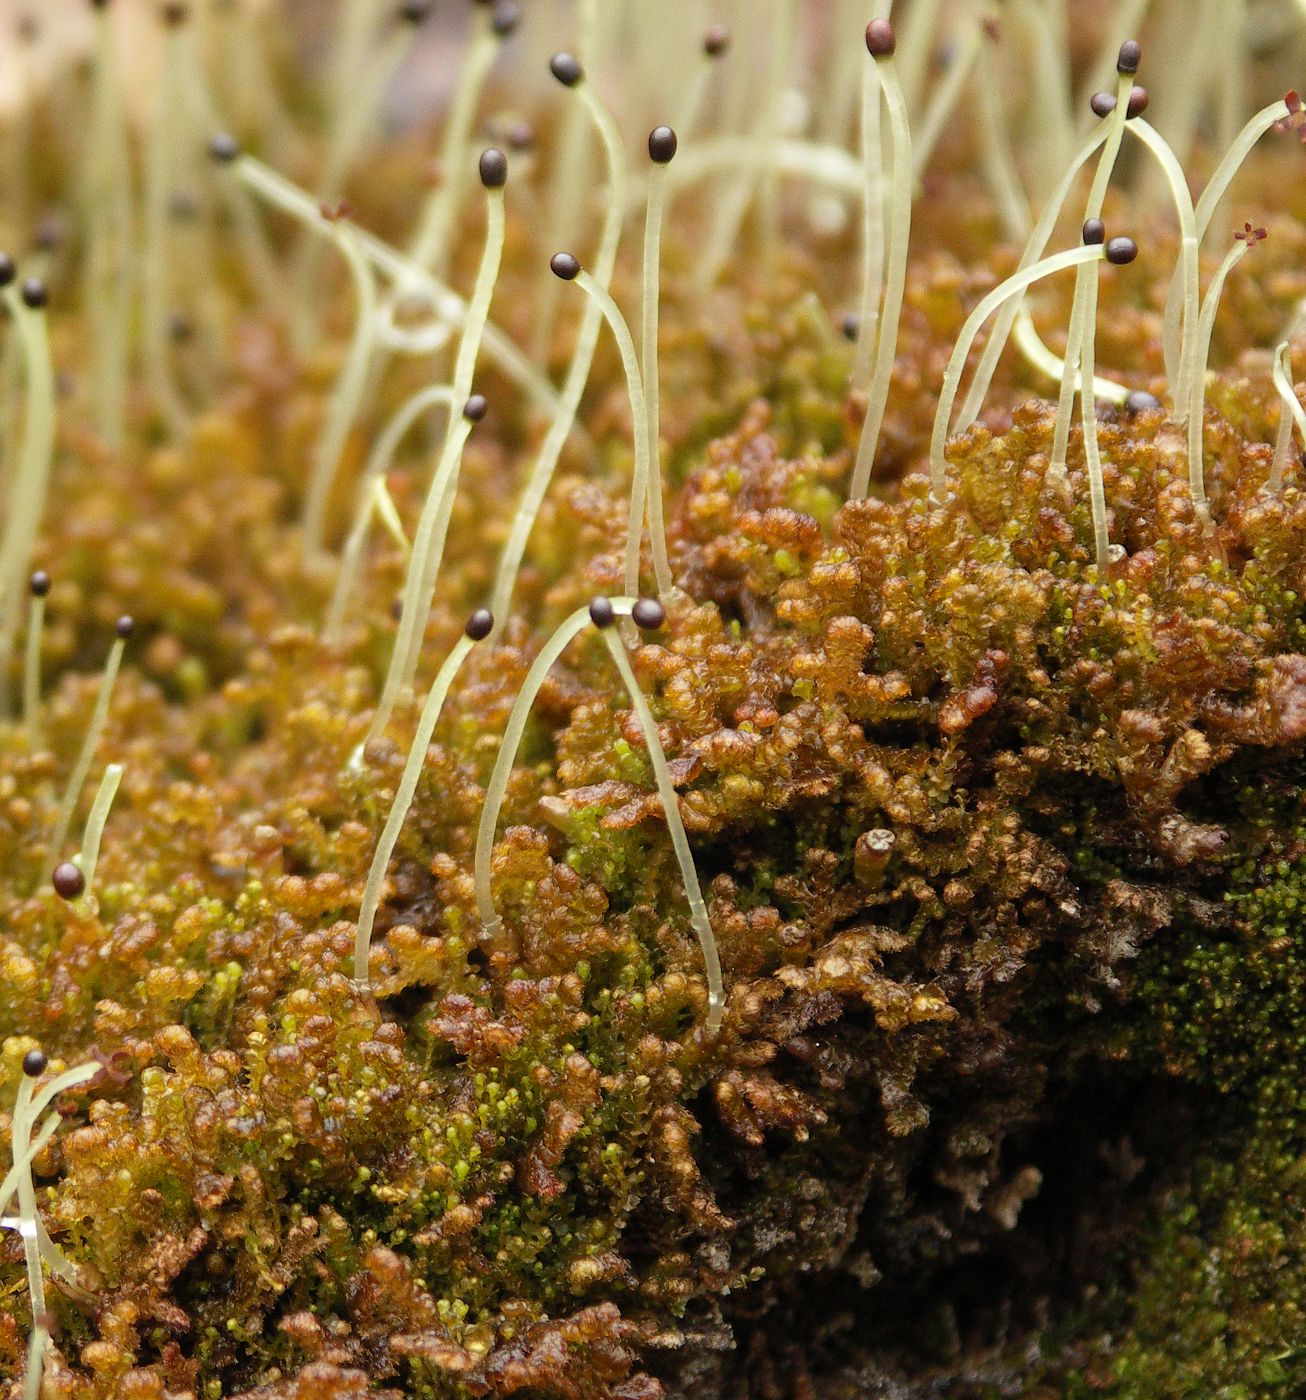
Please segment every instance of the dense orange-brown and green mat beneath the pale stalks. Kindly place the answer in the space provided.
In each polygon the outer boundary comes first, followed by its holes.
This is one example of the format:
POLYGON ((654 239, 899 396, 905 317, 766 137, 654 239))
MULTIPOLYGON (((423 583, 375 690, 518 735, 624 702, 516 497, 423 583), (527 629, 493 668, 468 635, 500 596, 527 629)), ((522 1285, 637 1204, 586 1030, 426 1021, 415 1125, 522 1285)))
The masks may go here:
MULTIPOLYGON (((1278 405, 1249 350, 1303 290, 1282 168, 1261 186, 1270 244, 1228 294, 1236 368, 1208 393, 1215 526, 1163 413, 1103 409, 1124 546, 1107 577, 1079 433, 1067 490, 1019 364, 953 445, 946 507, 908 470, 964 311, 1011 263, 964 179, 932 242, 922 216, 865 501, 844 503, 861 405, 823 309, 855 251, 784 251, 704 304, 691 213, 669 239, 677 589, 633 659, 721 945, 719 1036, 594 636, 546 685, 510 787, 507 942, 476 916, 475 827, 518 686, 552 623, 619 588, 610 349, 592 451, 573 444, 518 615, 472 654, 427 755, 375 994, 350 979, 353 920, 420 697, 349 760, 403 557, 377 540, 326 645, 329 580, 297 539, 347 298, 297 361, 224 269, 221 386, 185 440, 162 441, 143 388, 122 454, 66 413, 38 550, 43 742, 0 727, 0 1105, 34 1047, 104 1064, 36 1163, 87 1292, 52 1289, 49 1393, 1299 1394, 1306 494, 1298 468, 1264 489, 1278 405), (122 612, 137 630, 99 760, 125 778, 94 895, 67 903, 48 833, 122 612)), ((525 224, 497 302, 521 340, 525 224)), ((1103 276, 1102 356, 1138 384, 1159 374, 1165 255, 1103 276)), ((1060 294, 1040 302, 1050 340, 1060 294)), ((56 295, 74 378, 84 314, 71 284, 56 295)), ((398 368, 364 428, 417 382, 398 368)), ((484 389, 424 678, 487 591, 540 431, 493 372, 484 389)), ((392 475, 407 521, 427 470, 414 442, 392 475)), ((8 1231, 0 1302, 18 1373, 8 1231)))

